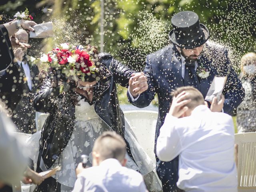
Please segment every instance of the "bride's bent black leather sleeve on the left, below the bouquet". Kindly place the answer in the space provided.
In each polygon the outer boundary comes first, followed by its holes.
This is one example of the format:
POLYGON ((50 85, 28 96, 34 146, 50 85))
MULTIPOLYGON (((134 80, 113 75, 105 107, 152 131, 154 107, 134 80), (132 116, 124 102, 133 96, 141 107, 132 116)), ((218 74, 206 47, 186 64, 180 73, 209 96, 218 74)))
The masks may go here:
POLYGON ((34 108, 38 112, 53 113, 57 107, 59 90, 51 87, 50 77, 46 77, 41 90, 34 98, 34 108))

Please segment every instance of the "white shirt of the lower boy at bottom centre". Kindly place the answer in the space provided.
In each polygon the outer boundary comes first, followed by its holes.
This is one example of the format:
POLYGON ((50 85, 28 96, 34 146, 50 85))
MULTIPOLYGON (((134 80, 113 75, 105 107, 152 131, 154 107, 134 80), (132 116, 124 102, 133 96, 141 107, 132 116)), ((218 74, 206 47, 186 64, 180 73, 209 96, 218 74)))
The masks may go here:
POLYGON ((126 168, 116 159, 106 159, 99 166, 78 174, 72 192, 146 192, 142 175, 126 168))

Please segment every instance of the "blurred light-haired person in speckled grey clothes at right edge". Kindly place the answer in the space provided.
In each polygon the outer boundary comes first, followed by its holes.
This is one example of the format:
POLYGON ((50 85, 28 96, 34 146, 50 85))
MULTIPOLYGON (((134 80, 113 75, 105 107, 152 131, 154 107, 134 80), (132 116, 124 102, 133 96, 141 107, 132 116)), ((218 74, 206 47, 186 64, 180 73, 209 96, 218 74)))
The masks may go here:
POLYGON ((241 59, 241 81, 244 101, 237 108, 239 133, 256 131, 256 53, 249 52, 241 59))

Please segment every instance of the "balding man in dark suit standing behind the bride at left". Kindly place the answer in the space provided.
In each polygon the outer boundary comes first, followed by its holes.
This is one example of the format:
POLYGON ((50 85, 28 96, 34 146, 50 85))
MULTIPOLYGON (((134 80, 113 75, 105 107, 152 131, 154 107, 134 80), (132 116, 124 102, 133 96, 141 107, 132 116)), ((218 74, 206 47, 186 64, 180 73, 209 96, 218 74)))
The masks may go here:
MULTIPOLYGON (((15 34, 19 42, 28 44, 28 33, 25 30, 19 30, 15 34)), ((38 66, 33 65, 26 56, 28 48, 14 48, 14 56, 17 64, 20 66, 23 74, 22 80, 24 81, 23 97, 13 110, 12 120, 18 129, 24 133, 32 134, 36 132, 36 111, 32 106, 34 96, 38 87, 38 66)))

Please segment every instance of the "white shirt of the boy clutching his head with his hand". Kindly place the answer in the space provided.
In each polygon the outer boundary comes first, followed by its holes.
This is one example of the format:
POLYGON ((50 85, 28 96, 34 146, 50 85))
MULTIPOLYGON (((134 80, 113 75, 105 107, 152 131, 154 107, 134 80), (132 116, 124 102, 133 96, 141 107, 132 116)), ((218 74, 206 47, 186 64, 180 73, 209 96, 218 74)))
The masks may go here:
POLYGON ((166 115, 156 144, 162 161, 179 155, 178 188, 186 192, 237 192, 234 124, 204 105, 191 116, 166 115))

